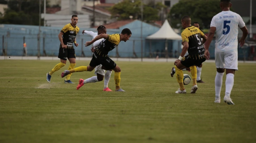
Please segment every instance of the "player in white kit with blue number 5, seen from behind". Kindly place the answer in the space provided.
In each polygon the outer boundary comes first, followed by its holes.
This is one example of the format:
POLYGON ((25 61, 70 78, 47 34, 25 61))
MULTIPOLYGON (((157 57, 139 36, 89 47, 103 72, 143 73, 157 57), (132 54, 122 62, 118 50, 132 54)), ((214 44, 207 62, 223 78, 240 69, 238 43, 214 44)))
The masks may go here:
POLYGON ((238 43, 243 46, 248 35, 248 30, 242 17, 230 11, 230 0, 221 0, 220 8, 222 12, 212 18, 210 32, 207 41, 204 43, 205 58, 210 59, 209 46, 216 32, 215 44, 215 63, 217 74, 215 77, 215 103, 220 103, 220 92, 222 86, 222 77, 226 69, 226 91, 224 102, 234 104, 230 98, 230 93, 234 85, 234 73, 238 70, 238 43), (242 30, 243 35, 238 41, 238 27, 242 30))

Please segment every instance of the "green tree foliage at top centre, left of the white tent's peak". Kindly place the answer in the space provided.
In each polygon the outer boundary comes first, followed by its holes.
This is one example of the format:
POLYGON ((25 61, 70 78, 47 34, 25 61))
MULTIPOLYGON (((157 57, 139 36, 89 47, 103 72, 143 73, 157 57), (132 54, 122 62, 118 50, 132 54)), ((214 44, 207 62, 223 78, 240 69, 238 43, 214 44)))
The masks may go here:
MULTIPOLYGON (((154 3, 150 1, 148 5, 143 4, 143 20, 146 22, 152 20, 159 20, 159 11, 161 8, 165 8, 162 3, 154 3)), ((130 19, 141 19, 141 1, 124 0, 121 3, 117 3, 110 9, 112 17, 118 17, 119 20, 130 19)))

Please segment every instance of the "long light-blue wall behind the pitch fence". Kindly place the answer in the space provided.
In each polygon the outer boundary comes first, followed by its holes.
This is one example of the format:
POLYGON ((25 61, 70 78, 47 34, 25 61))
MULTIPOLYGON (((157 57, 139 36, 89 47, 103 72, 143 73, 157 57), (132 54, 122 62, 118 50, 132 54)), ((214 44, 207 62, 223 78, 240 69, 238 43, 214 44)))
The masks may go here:
MULTIPOLYGON (((147 23, 142 24, 143 32, 142 32, 142 42, 143 42, 143 57, 149 57, 150 53, 150 41, 146 40, 148 35, 151 35, 159 30, 158 27, 152 26, 147 23)), ((59 52, 59 38, 58 34, 62 27, 41 27, 41 35, 40 35, 40 54, 43 54, 43 37, 45 40, 45 50, 47 56, 57 56, 59 52)), ((130 40, 127 42, 121 41, 118 45, 118 53, 120 57, 134 57, 133 56, 133 41, 135 43, 135 53, 137 57, 141 57, 141 21, 135 20, 132 23, 129 23, 125 26, 120 27, 120 29, 108 29, 108 34, 121 33, 123 28, 129 28, 132 32, 132 36, 130 40)), ((76 56, 81 56, 81 51, 83 51, 86 57, 91 57, 92 53, 89 47, 85 47, 83 43, 86 41, 91 41, 92 37, 85 34, 82 35, 82 30, 94 31, 96 32, 96 28, 83 28, 80 27, 80 32, 76 37, 77 43, 79 43, 78 47, 75 47, 76 56), (83 40, 83 43, 82 43, 83 40)), ((23 55, 23 37, 25 36, 25 42, 27 44, 27 53, 29 56, 37 55, 37 34, 39 31, 38 26, 28 26, 28 25, 12 25, 12 24, 0 24, 0 55, 3 55, 3 38, 5 37, 5 45, 7 44, 7 55, 23 55), (7 36, 7 33, 10 33, 10 36, 7 36)), ((213 40, 210 46, 211 58, 214 58, 214 44, 213 40)), ((168 40, 168 52, 169 57, 174 57, 175 50, 177 51, 176 56, 180 55, 181 52, 181 41, 180 40, 168 40)), ((110 57, 116 57, 116 50, 109 52, 110 57)), ((156 52, 165 52, 165 40, 152 40, 151 52, 153 53, 153 57, 156 56, 156 52)), ((245 52, 246 57, 248 56, 249 48, 241 49, 238 48, 238 57, 243 58, 245 52)), ((160 57, 165 57, 164 54, 159 54, 160 57)))

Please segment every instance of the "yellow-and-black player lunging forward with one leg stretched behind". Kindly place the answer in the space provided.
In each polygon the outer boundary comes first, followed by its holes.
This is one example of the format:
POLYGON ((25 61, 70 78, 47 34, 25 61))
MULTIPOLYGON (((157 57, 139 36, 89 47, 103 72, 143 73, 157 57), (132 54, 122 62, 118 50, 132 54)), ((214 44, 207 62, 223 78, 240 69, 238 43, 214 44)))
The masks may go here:
MULTIPOLYGON (((101 38, 104 38, 104 40, 101 41, 99 46, 93 52, 93 56, 89 66, 80 66, 80 67, 74 68, 73 70, 65 70, 63 73, 61 73, 61 77, 64 77, 73 72, 83 72, 83 71, 91 72, 96 66, 98 66, 99 64, 102 64, 102 69, 115 71, 114 80, 116 83, 116 91, 124 91, 120 88, 121 69, 119 68, 118 65, 116 65, 114 61, 112 61, 112 59, 108 57, 108 52, 116 48, 121 41, 126 42, 127 40, 129 40, 129 38, 131 37, 131 34, 132 34, 131 30, 128 28, 125 28, 122 30, 121 34, 97 35, 92 41, 88 41, 85 44, 85 46, 89 46, 95 41, 101 38)), ((76 87, 76 89, 79 89, 81 86, 84 85, 83 81, 84 81, 83 79, 79 80, 79 84, 76 87)))

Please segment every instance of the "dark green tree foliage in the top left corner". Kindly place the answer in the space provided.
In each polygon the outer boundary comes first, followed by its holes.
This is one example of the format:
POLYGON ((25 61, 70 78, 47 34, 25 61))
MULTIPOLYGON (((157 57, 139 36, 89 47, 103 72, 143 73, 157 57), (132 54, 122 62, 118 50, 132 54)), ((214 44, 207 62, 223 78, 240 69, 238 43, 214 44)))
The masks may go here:
MULTIPOLYGON (((41 13, 43 12, 44 3, 41 1, 41 13)), ((46 4, 48 2, 46 1, 46 4)), ((3 24, 25 24, 39 25, 39 1, 35 0, 9 0, 8 8, 0 17, 3 24)), ((43 25, 41 19, 41 25, 43 25)))

